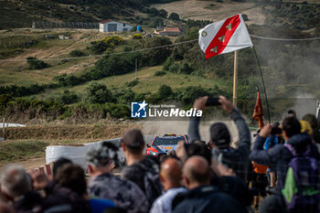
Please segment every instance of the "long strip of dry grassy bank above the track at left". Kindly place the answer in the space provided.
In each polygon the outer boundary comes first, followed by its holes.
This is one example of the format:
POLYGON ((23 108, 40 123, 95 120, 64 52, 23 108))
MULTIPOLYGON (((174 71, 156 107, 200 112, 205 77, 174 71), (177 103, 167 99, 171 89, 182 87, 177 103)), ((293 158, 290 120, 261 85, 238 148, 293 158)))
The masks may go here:
POLYGON ((8 140, 97 140, 120 137, 125 130, 139 127, 135 123, 91 125, 41 125, 8 128, 8 140))

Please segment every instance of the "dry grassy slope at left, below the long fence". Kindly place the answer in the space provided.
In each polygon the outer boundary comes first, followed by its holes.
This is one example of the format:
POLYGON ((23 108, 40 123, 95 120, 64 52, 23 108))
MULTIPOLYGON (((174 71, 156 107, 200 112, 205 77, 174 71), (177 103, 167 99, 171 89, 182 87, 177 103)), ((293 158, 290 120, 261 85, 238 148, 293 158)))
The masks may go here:
MULTIPOLYGON (((77 73, 90 69, 98 58, 69 59, 69 52, 80 49, 89 54, 87 47, 91 41, 110 36, 99 33, 98 30, 66 30, 66 29, 14 29, 0 31, 0 59, 12 61, 1 61, 0 63, 0 85, 18 84, 27 86, 32 83, 48 83, 53 77, 63 73, 77 73), (47 39, 45 36, 58 37, 69 35, 70 40, 47 39), (26 47, 27 42, 34 40, 35 44, 26 47), (8 54, 7 52, 10 52, 8 54), (27 69, 27 57, 37 59, 49 59, 46 61, 52 67, 48 69, 27 69), (58 60, 50 60, 58 59, 58 60)), ((124 39, 130 38, 129 34, 121 34, 124 39)))

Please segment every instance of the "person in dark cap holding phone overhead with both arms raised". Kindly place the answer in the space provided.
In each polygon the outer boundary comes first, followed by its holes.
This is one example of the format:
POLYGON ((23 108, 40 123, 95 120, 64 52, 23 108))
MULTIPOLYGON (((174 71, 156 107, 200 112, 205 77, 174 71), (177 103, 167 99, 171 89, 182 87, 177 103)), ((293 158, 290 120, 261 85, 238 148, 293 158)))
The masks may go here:
MULTIPOLYGON (((208 96, 198 98, 193 107, 204 111, 208 96)), ((251 145, 251 133, 248 125, 242 118, 239 110, 233 107, 232 103, 224 96, 219 96, 220 107, 229 113, 233 122, 235 122, 239 132, 239 146, 237 149, 230 147, 230 134, 226 124, 216 122, 210 126, 210 141, 212 142, 212 158, 231 168, 237 176, 247 181, 248 167, 250 164, 249 154, 251 145)), ((189 140, 191 143, 200 140, 198 132, 199 117, 191 117, 189 123, 189 140)))

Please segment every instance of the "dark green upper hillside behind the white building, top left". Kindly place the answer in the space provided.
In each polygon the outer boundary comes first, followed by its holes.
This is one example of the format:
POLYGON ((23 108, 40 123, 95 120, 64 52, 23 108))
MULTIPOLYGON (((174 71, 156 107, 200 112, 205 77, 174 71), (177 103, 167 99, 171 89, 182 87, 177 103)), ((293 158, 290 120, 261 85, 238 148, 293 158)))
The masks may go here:
MULTIPOLYGON (((136 12, 155 15, 150 11, 152 3, 172 0, 2 0, 0 29, 31 27, 36 22, 99 22, 109 18, 140 17, 136 12)), ((146 19, 147 21, 148 19, 146 19)), ((140 22, 143 20, 140 20, 140 22)), ((142 24, 142 23, 140 23, 142 24)))

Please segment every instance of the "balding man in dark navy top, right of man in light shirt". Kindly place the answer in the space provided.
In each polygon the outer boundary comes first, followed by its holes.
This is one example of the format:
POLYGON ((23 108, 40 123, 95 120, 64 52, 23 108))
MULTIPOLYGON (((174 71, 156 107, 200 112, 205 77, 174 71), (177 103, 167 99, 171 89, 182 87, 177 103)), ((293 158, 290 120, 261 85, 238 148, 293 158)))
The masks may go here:
POLYGON ((210 177, 208 162, 203 157, 188 158, 183 166, 183 178, 189 191, 176 196, 173 212, 246 212, 238 201, 210 186, 210 177))

